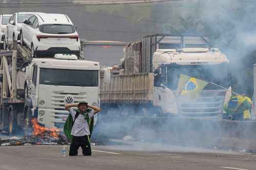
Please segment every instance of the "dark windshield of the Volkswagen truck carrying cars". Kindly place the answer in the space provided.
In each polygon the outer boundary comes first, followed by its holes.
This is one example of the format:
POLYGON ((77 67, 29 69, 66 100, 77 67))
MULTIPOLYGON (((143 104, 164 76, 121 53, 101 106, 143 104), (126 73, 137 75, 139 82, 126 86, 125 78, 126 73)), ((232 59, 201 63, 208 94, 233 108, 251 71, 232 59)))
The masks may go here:
POLYGON ((40 84, 98 87, 98 70, 40 68, 40 84))

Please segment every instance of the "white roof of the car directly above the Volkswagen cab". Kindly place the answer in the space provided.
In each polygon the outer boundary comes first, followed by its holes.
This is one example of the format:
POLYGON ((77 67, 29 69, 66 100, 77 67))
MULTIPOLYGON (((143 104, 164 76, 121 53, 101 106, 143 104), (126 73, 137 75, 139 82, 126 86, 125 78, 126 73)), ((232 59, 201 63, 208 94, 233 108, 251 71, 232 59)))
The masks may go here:
POLYGON ((73 25, 71 19, 65 14, 48 14, 48 13, 38 13, 41 20, 43 20, 44 24, 68 24, 73 25))

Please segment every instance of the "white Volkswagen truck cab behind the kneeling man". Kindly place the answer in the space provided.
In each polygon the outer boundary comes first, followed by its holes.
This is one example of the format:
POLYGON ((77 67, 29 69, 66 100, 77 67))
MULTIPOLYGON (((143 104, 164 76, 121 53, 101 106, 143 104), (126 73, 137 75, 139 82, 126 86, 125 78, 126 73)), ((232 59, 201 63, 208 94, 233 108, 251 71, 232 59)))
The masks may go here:
POLYGON ((74 55, 33 59, 26 68, 25 108, 40 124, 63 130, 67 103, 99 104, 99 63, 74 55), (28 110, 29 110, 28 109, 28 110))

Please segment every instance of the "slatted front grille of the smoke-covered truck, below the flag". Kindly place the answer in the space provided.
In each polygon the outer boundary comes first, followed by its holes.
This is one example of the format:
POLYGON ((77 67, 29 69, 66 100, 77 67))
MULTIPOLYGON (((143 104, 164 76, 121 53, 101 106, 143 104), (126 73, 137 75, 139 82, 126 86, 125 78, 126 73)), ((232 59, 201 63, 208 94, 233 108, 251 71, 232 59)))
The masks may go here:
POLYGON ((185 116, 218 116, 223 113, 226 90, 203 90, 196 101, 179 101, 179 113, 185 116))

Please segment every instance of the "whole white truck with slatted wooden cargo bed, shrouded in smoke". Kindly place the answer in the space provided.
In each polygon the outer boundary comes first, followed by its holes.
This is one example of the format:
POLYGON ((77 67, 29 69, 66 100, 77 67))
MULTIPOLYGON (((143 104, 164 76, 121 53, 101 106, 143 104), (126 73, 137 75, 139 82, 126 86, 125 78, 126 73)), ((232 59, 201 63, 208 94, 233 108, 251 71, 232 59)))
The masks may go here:
POLYGON ((176 93, 181 74, 229 87, 229 60, 218 48, 208 48, 206 42, 207 37, 154 35, 127 45, 131 49, 126 48, 121 74, 110 75, 111 71, 103 68, 102 112, 118 115, 221 116, 223 103, 230 96, 230 91, 208 84, 199 98, 193 101, 179 101, 176 93))

